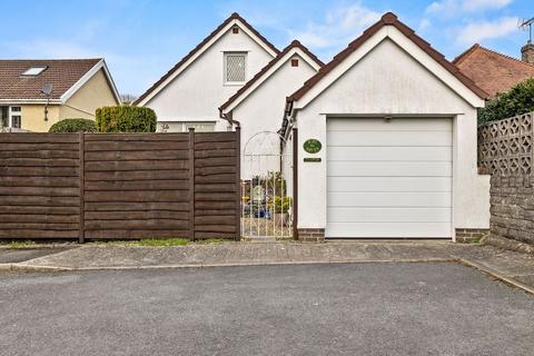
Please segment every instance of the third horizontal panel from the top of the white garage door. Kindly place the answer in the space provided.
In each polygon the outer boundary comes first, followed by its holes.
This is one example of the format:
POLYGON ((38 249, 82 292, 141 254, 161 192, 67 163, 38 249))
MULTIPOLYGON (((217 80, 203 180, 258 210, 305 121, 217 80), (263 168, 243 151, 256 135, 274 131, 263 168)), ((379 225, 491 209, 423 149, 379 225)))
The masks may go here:
POLYGON ((451 161, 452 147, 328 147, 330 161, 451 161))

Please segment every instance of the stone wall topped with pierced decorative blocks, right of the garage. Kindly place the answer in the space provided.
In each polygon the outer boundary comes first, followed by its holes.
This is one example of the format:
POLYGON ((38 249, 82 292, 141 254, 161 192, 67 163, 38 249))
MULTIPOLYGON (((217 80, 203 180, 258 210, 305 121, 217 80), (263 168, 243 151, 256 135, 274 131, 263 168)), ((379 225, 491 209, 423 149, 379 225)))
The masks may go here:
POLYGON ((491 234, 534 245, 534 112, 478 128, 478 166, 491 179, 491 234))

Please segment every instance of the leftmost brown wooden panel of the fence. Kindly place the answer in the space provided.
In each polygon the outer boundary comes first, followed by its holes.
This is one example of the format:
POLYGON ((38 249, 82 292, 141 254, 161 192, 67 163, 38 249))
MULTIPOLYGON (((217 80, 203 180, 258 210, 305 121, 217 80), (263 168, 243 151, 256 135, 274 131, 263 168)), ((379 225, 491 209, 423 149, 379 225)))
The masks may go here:
POLYGON ((78 238, 77 134, 0 134, 0 238, 78 238))

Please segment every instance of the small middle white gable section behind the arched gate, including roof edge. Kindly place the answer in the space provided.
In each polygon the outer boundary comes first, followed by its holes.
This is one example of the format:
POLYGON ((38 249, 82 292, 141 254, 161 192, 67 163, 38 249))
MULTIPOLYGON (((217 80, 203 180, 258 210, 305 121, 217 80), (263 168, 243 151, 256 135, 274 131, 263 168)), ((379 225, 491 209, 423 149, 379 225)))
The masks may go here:
MULTIPOLYGON (((238 125, 241 130, 241 178, 251 178, 255 165, 264 166, 260 167, 263 170, 281 170, 279 156, 254 159, 258 150, 256 141, 264 140, 259 135, 279 129, 286 97, 301 87, 323 66, 299 41, 293 41, 221 105, 220 117, 238 125)), ((279 147, 279 140, 277 141, 275 145, 279 147)))

